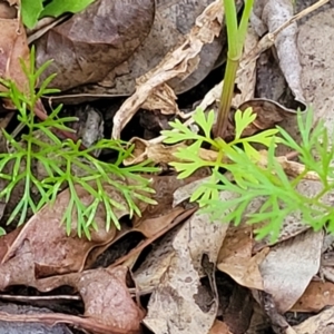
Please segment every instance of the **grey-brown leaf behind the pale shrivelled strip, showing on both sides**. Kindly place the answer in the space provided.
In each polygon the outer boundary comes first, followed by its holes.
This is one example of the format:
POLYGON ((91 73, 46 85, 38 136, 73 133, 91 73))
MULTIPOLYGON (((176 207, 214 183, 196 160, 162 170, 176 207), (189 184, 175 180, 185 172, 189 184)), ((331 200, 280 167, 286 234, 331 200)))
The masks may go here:
MULTIPOLYGON (((183 43, 186 35, 195 24, 196 18, 214 0, 156 1, 156 14, 150 33, 135 53, 126 62, 122 62, 111 70, 106 78, 97 85, 86 85, 69 91, 67 99, 72 99, 73 102, 78 102, 79 99, 85 99, 85 96, 86 98, 88 96, 98 97, 101 95, 112 97, 134 94, 136 80, 156 67, 170 50, 175 50, 183 43), (73 96, 73 94, 78 94, 78 96, 73 96)), ((238 7, 240 7, 242 1, 238 0, 237 2, 239 4, 238 7)), ((174 90, 167 89, 164 94, 169 98, 169 101, 165 99, 167 104, 163 105, 165 111, 167 111, 166 107, 168 107, 168 105, 171 105, 173 110, 175 110, 176 106, 174 106, 175 102, 173 100, 174 91, 175 94, 181 94, 189 90, 209 73, 225 45, 225 37, 226 33, 222 31, 218 38, 215 38, 212 43, 206 45, 202 49, 199 61, 196 59, 196 61, 191 62, 193 72, 190 72, 189 69, 189 72, 186 73, 184 78, 176 78, 168 82, 174 90)), ((58 99, 62 101, 63 98, 63 96, 58 97, 58 99)))

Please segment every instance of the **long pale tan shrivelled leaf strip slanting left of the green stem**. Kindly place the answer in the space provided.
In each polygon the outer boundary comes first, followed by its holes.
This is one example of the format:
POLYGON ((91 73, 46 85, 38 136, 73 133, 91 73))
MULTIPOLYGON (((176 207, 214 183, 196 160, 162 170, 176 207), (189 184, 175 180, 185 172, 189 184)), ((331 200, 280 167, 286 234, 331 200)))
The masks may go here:
POLYGON ((137 110, 153 98, 158 87, 166 85, 173 78, 189 73, 190 66, 204 45, 212 43, 222 30, 222 1, 210 3, 197 18, 196 26, 187 36, 185 42, 171 53, 167 55, 158 67, 138 79, 136 92, 129 97, 114 118, 112 138, 119 138, 120 131, 137 110))

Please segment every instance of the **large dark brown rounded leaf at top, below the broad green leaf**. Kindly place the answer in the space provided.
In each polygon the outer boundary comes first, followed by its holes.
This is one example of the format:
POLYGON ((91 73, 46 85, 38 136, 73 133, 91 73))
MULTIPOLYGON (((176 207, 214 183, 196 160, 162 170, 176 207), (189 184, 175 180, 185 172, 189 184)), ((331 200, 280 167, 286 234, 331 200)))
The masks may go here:
POLYGON ((94 2, 36 42, 38 66, 53 59, 41 80, 56 72, 52 86, 67 90, 104 79, 145 40, 154 14, 154 0, 94 2))

